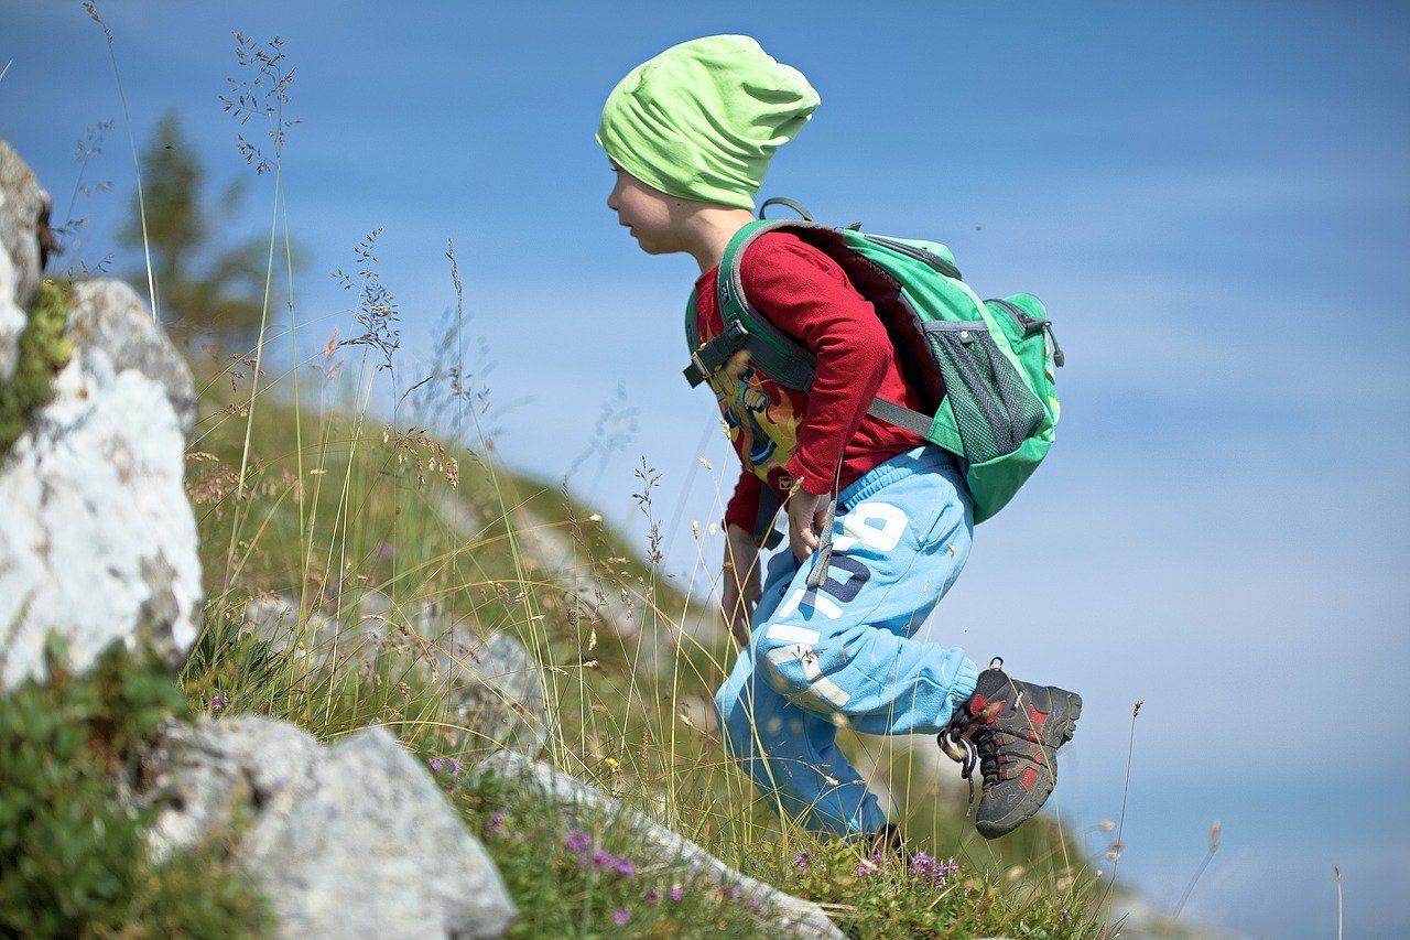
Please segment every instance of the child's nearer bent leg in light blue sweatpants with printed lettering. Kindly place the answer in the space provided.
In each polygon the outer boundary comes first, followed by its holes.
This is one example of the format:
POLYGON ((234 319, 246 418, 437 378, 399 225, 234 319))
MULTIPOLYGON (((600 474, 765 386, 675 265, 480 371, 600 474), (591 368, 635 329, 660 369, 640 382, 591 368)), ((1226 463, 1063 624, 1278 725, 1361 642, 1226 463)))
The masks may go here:
POLYGON ((826 579, 807 587, 809 559, 752 641, 780 694, 867 734, 942 731, 979 677, 963 651, 911 638, 963 567, 971 525, 955 466, 914 454, 843 493, 826 579))

